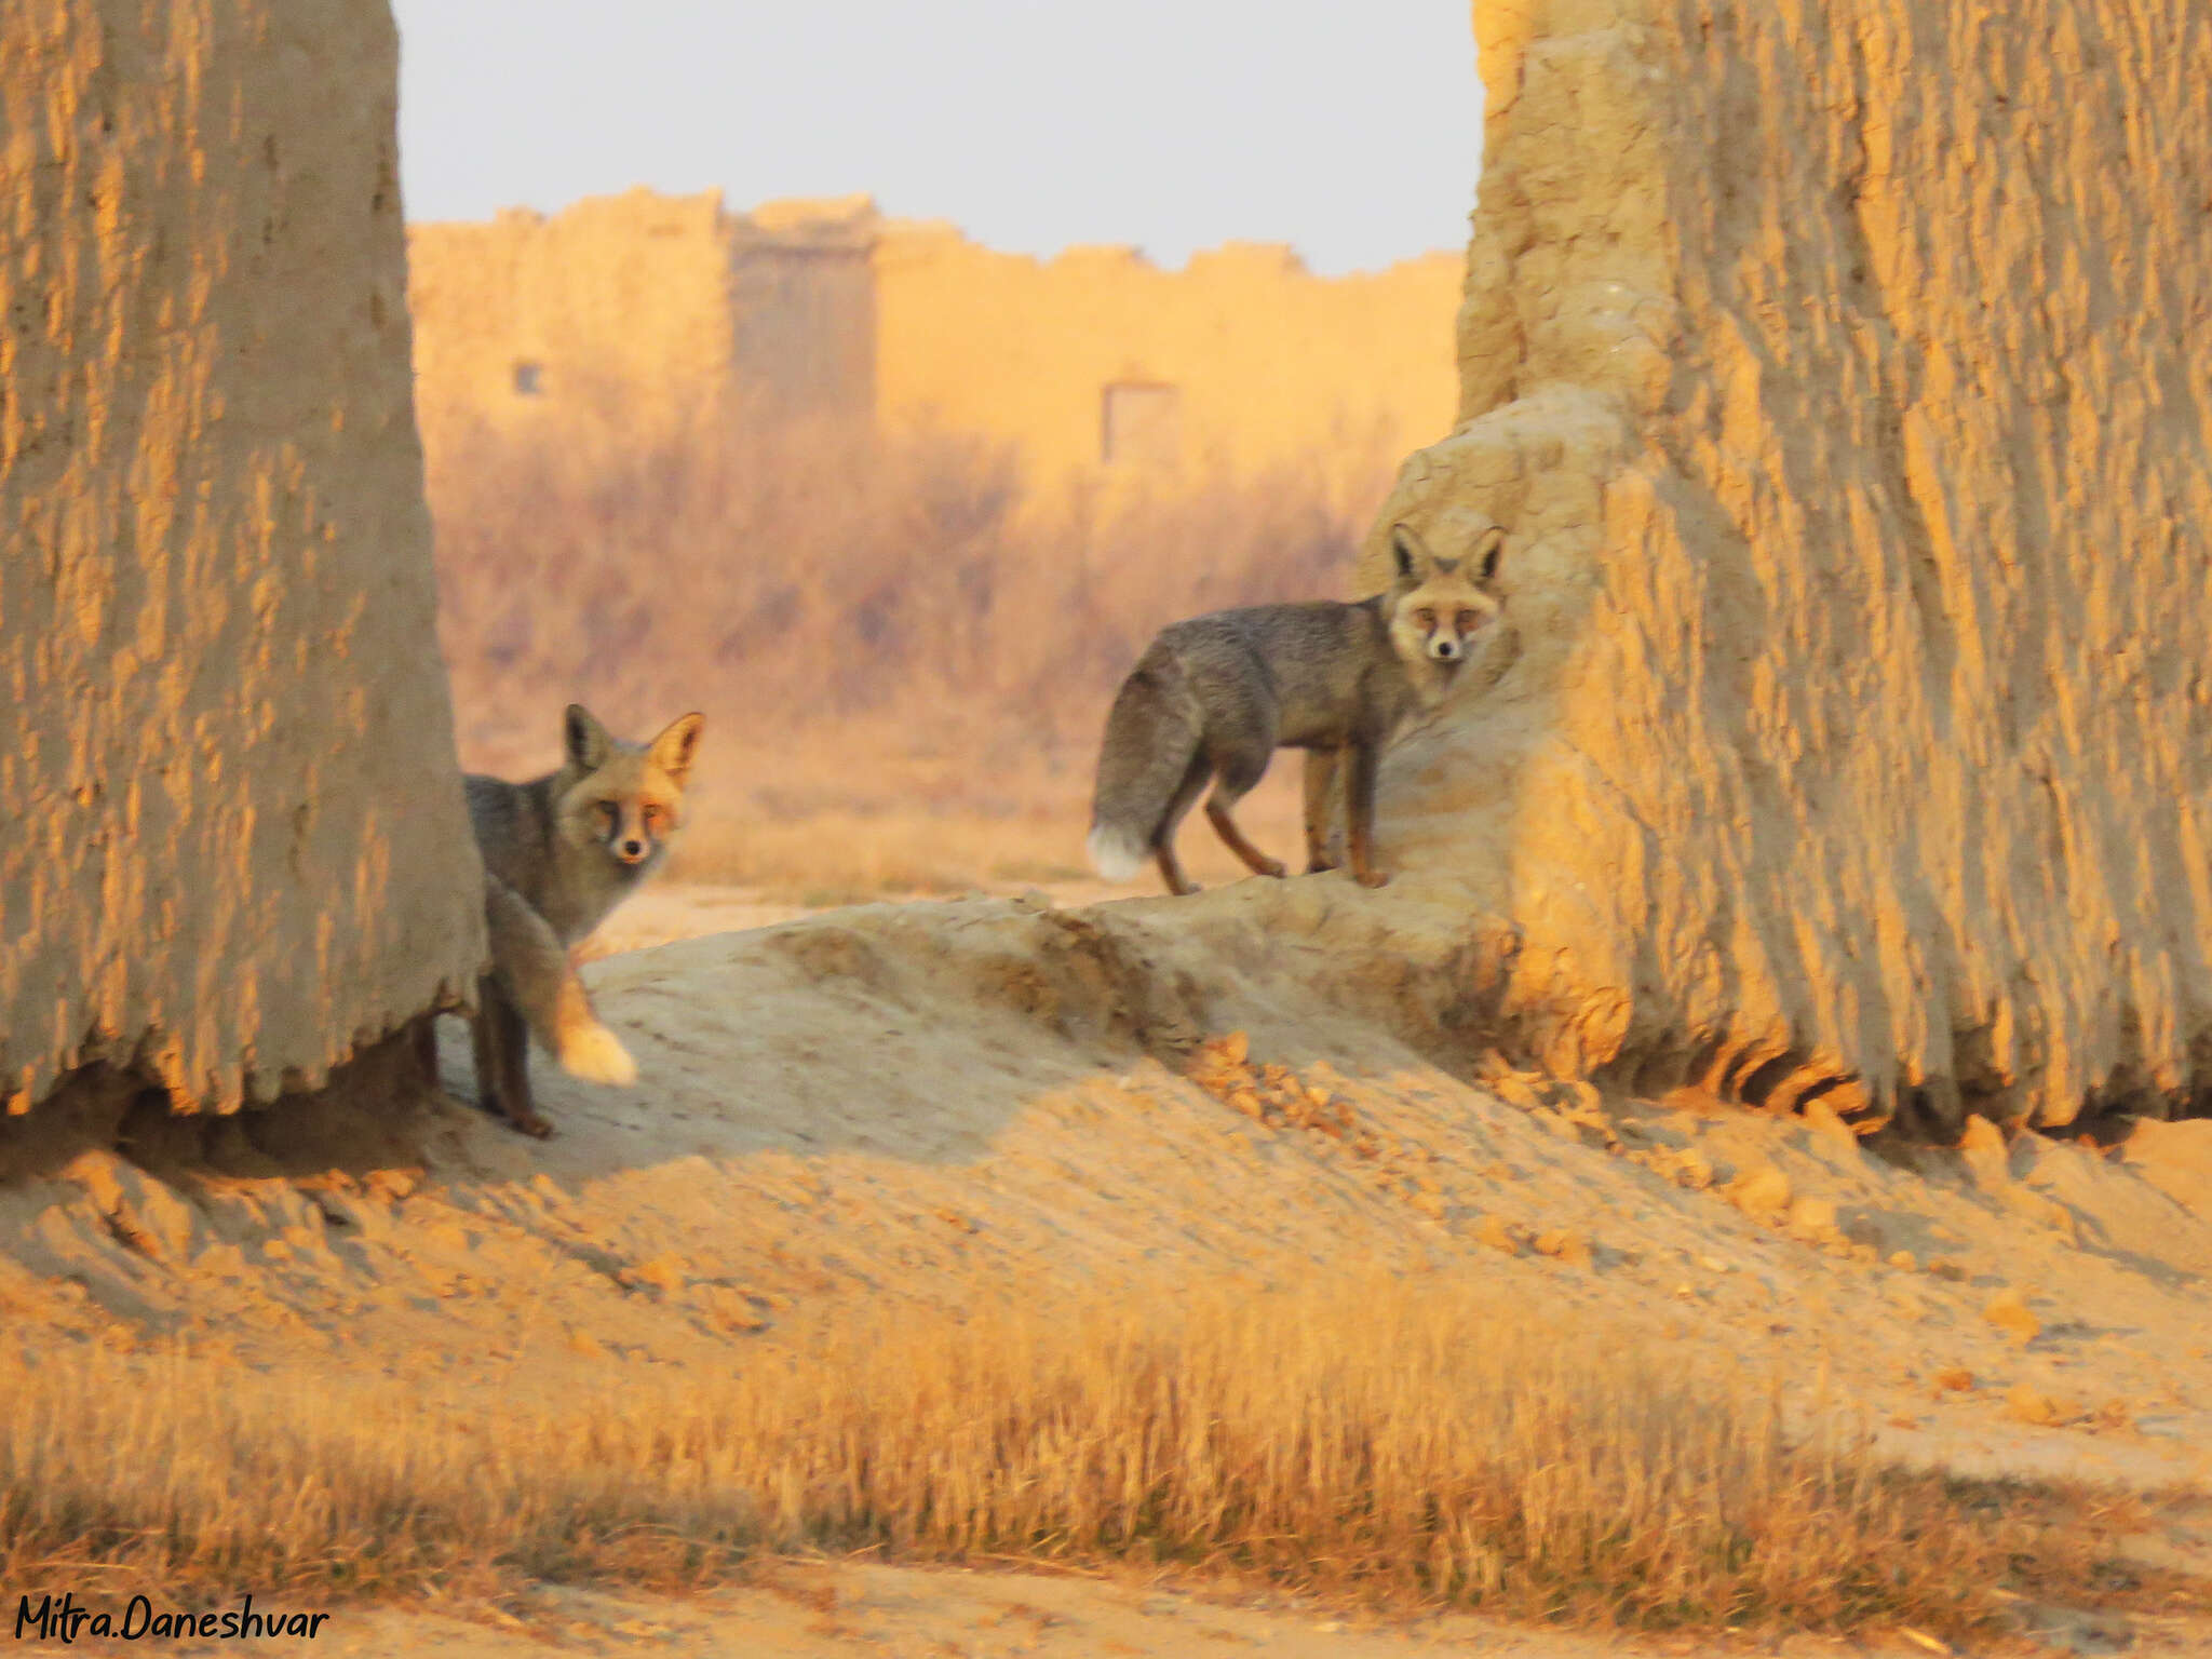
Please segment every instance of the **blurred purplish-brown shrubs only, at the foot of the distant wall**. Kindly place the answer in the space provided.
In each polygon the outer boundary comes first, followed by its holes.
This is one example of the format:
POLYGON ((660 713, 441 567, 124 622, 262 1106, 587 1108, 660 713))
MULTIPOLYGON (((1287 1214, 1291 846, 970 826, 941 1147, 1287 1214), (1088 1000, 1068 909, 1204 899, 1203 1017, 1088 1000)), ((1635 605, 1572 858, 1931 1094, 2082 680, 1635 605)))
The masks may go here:
POLYGON ((1088 737, 1161 624, 1343 591, 1389 458, 1046 511, 1004 451, 929 431, 604 456, 476 431, 427 482, 471 737, 575 695, 748 728, 962 703, 1088 737))

